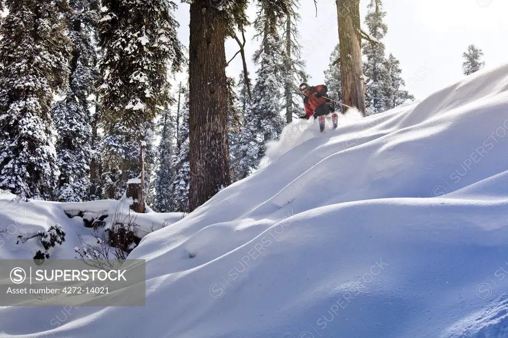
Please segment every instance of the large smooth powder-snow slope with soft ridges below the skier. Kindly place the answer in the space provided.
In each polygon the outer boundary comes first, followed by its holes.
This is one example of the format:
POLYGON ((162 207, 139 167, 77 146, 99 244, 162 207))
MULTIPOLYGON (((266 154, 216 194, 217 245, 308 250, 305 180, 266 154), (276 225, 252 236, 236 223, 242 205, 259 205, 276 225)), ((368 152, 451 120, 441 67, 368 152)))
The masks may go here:
POLYGON ((325 134, 299 121, 131 253, 146 307, 3 308, 0 336, 506 337, 507 132, 508 65, 325 134))

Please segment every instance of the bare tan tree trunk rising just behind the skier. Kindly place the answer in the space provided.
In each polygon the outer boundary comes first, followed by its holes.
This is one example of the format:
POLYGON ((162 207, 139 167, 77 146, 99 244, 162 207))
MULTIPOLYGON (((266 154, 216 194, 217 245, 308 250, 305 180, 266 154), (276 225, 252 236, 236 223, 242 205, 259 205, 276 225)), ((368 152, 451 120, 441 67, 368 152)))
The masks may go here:
POLYGON ((365 83, 362 71, 360 0, 336 0, 339 28, 340 80, 344 104, 365 116, 365 83))

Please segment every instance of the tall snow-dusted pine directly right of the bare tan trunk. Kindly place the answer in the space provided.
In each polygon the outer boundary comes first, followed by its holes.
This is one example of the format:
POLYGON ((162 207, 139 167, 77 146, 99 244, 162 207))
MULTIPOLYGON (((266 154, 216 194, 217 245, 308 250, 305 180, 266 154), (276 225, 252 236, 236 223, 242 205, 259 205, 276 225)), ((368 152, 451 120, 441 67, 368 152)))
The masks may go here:
POLYGON ((388 31, 388 26, 383 22, 386 12, 383 11, 382 0, 371 0, 367 7, 365 23, 370 35, 378 42, 363 43, 367 58, 363 73, 369 79, 365 90, 365 105, 371 114, 377 114, 390 109, 393 102, 392 79, 385 58, 385 44, 381 42, 388 31))

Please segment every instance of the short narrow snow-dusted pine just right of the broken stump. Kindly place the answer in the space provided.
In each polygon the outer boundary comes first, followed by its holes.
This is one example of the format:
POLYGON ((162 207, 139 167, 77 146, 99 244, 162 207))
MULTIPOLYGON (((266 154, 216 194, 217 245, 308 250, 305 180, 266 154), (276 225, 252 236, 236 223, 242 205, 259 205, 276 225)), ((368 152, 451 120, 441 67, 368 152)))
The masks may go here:
POLYGON ((175 125, 171 111, 166 108, 158 124, 158 135, 161 141, 157 146, 157 169, 155 174, 154 209, 157 212, 171 211, 171 191, 175 174, 173 171, 175 125))

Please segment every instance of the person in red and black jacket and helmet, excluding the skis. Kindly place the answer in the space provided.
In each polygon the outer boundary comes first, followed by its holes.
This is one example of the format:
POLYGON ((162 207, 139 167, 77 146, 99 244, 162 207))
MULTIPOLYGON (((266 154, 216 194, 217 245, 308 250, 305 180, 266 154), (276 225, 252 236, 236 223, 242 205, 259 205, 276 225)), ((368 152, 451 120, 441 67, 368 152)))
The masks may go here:
POLYGON ((310 119, 314 115, 314 119, 325 116, 335 111, 335 105, 327 100, 328 88, 325 85, 310 87, 307 83, 300 85, 300 91, 304 95, 303 105, 305 106, 305 116, 301 119, 310 119))

